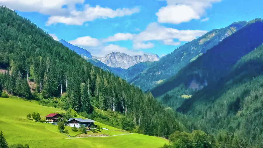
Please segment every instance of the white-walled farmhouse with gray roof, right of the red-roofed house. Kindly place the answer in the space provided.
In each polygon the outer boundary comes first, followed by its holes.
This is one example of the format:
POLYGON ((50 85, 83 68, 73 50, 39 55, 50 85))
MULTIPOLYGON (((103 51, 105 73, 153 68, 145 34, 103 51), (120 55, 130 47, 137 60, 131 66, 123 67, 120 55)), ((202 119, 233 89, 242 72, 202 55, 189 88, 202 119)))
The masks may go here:
POLYGON ((84 125, 85 127, 90 127, 91 125, 94 125, 93 120, 91 119, 82 119, 82 118, 70 118, 67 121, 67 126, 79 128, 80 125, 84 125))

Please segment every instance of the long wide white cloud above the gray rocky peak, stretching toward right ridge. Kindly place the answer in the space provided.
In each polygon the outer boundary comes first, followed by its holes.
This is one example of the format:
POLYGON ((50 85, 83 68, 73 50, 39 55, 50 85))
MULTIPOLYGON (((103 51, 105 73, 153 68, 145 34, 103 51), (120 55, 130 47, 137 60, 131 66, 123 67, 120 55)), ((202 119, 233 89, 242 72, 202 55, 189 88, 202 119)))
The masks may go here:
POLYGON ((150 23, 146 29, 139 34, 131 33, 116 33, 113 36, 102 39, 102 42, 115 42, 122 40, 132 40, 133 49, 149 49, 153 48, 154 44, 147 41, 158 40, 165 45, 180 45, 180 42, 189 42, 196 37, 200 37, 207 33, 204 30, 177 30, 161 26, 159 23, 150 23), (174 42, 178 39, 179 42, 174 42), (146 43, 147 42, 147 43, 146 43))

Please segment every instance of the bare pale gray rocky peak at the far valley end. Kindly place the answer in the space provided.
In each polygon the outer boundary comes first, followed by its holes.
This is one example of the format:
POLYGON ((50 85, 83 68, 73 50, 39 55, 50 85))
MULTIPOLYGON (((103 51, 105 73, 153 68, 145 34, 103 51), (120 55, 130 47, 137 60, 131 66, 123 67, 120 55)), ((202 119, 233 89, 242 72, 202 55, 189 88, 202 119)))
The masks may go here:
POLYGON ((93 56, 92 58, 97 59, 110 67, 120 67, 124 69, 128 69, 129 67, 134 66, 135 64, 138 64, 140 62, 147 62, 147 61, 153 62, 153 61, 158 61, 160 59, 160 57, 157 54, 155 55, 143 54, 143 55, 129 56, 127 54, 120 52, 113 52, 103 57, 93 56))

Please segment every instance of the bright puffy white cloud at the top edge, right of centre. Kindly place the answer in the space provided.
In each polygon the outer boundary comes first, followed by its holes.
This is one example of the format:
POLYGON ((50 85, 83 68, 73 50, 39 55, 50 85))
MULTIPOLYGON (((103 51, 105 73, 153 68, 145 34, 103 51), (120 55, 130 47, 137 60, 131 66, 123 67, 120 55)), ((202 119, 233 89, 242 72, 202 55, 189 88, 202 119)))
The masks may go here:
POLYGON ((159 23, 180 24, 192 19, 200 19, 205 15, 205 9, 211 8, 212 3, 222 0, 165 0, 167 6, 156 13, 159 23))

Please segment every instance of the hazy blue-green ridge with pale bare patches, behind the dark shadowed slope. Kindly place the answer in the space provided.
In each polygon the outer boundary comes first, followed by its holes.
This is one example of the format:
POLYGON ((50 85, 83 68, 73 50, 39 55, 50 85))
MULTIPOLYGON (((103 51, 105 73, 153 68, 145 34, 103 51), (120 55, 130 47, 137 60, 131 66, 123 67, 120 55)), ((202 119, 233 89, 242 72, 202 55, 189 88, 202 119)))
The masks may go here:
POLYGON ((193 62, 198 56, 217 45, 226 37, 242 28, 247 22, 236 22, 222 29, 214 29, 202 37, 188 42, 172 53, 153 62, 143 73, 138 73, 128 82, 146 91, 159 84, 159 80, 168 79, 179 70, 193 62))

